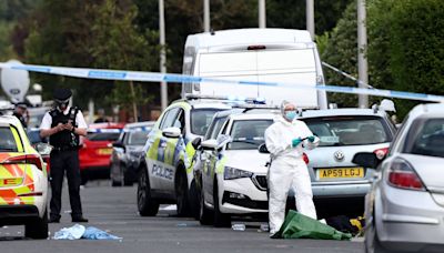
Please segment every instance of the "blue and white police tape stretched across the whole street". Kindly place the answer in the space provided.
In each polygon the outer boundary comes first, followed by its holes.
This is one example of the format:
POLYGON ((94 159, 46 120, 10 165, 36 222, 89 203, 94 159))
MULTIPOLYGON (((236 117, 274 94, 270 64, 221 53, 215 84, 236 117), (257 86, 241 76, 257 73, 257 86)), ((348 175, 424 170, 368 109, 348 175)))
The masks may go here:
POLYGON ((225 80, 215 78, 203 78, 185 74, 158 73, 143 71, 123 71, 123 70, 103 70, 103 69, 85 69, 85 68, 68 68, 68 67, 51 67, 51 65, 33 65, 33 64, 14 64, 0 63, 1 69, 27 70, 31 72, 48 73, 56 75, 65 75, 72 78, 100 79, 100 80, 117 80, 117 81, 140 81, 140 82, 167 82, 167 83, 220 83, 220 84, 240 84, 240 85, 265 85, 275 88, 292 88, 292 89, 316 89, 326 92, 349 93, 349 94, 369 94, 376 97, 386 97, 395 99, 408 99, 430 102, 444 102, 443 95, 415 93, 407 91, 364 89, 353 87, 324 85, 317 84, 303 85, 295 82, 259 82, 259 81, 242 81, 242 80, 225 80))

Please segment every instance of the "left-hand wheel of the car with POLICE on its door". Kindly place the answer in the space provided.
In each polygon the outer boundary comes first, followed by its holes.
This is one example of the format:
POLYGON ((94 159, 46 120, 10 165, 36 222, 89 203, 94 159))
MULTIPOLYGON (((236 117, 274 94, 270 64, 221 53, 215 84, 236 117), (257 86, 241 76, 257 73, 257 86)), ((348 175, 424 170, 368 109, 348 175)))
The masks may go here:
POLYGON ((159 202, 151 196, 150 179, 145 169, 141 170, 138 182, 138 209, 141 216, 155 216, 159 202))

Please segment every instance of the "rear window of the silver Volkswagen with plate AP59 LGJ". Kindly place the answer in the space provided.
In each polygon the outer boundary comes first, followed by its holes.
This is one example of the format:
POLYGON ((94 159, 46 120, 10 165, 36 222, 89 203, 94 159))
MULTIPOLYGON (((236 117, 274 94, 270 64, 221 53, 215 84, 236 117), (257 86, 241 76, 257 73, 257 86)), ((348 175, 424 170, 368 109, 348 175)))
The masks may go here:
POLYGON ((322 117, 303 119, 320 146, 369 145, 392 141, 392 134, 380 117, 322 117))

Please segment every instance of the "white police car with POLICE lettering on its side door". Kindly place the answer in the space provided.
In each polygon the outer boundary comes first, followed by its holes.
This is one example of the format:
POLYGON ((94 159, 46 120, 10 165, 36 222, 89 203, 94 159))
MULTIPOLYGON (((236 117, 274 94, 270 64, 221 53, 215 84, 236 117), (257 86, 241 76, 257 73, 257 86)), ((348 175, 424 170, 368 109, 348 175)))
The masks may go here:
POLYGON ((180 216, 194 211, 191 209, 196 200, 189 199, 189 189, 195 189, 191 186, 195 152, 192 141, 205 134, 214 113, 228 109, 231 107, 216 101, 184 99, 164 110, 143 148, 138 183, 140 215, 155 215, 161 203, 176 203, 180 216))

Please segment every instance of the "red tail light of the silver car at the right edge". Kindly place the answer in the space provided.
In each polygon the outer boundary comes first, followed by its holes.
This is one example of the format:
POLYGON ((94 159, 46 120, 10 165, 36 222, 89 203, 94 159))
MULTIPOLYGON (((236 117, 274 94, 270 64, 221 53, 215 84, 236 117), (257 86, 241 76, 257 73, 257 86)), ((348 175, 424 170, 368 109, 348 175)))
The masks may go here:
POLYGON ((389 183, 395 188, 424 190, 424 184, 421 182, 420 176, 412 165, 403 159, 396 159, 390 164, 389 183))

